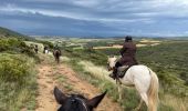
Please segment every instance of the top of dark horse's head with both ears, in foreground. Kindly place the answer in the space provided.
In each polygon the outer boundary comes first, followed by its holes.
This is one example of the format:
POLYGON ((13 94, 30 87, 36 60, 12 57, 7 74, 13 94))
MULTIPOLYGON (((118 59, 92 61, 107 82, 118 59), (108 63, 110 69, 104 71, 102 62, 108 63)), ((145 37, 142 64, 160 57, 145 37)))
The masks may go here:
POLYGON ((86 99, 81 94, 65 95, 56 87, 54 88, 55 100, 61 107, 58 111, 93 111, 106 94, 106 91, 92 99, 86 99))

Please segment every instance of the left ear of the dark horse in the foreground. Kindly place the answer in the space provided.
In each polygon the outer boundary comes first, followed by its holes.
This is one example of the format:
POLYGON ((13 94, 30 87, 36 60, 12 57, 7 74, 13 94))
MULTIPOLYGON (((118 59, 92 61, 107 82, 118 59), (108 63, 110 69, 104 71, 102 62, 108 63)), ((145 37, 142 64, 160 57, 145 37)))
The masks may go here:
POLYGON ((64 101, 67 99, 67 97, 63 92, 61 92, 56 87, 54 88, 53 93, 56 102, 60 104, 63 104, 64 101))

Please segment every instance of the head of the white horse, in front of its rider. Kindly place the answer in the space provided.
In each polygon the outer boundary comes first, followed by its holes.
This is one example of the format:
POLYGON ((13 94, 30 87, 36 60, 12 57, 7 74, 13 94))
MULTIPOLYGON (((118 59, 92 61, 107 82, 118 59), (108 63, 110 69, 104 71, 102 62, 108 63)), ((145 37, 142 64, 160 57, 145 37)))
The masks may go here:
POLYGON ((108 59, 107 59, 108 71, 113 70, 113 68, 115 67, 116 60, 117 60, 117 58, 115 56, 108 57, 108 59))

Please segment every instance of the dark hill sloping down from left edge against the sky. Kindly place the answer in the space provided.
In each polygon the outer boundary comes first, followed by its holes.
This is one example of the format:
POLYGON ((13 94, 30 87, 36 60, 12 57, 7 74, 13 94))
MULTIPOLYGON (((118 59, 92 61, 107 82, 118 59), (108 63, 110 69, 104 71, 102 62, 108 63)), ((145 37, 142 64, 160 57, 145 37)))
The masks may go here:
POLYGON ((2 38, 2 37, 3 38, 13 37, 13 38, 27 39, 27 40, 31 40, 32 39, 32 38, 30 38, 28 36, 24 36, 24 34, 21 34, 19 32, 12 31, 10 29, 0 27, 0 38, 2 38))

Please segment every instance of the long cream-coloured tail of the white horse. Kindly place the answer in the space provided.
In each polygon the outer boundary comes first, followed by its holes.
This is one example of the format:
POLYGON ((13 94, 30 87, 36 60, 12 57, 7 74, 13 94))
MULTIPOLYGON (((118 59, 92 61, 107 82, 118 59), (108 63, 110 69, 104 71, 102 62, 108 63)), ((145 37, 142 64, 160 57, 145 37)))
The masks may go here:
POLYGON ((149 111, 157 111, 157 105, 158 105, 158 78, 154 71, 152 71, 149 68, 149 73, 150 73, 150 85, 147 91, 148 95, 148 109, 149 111))

